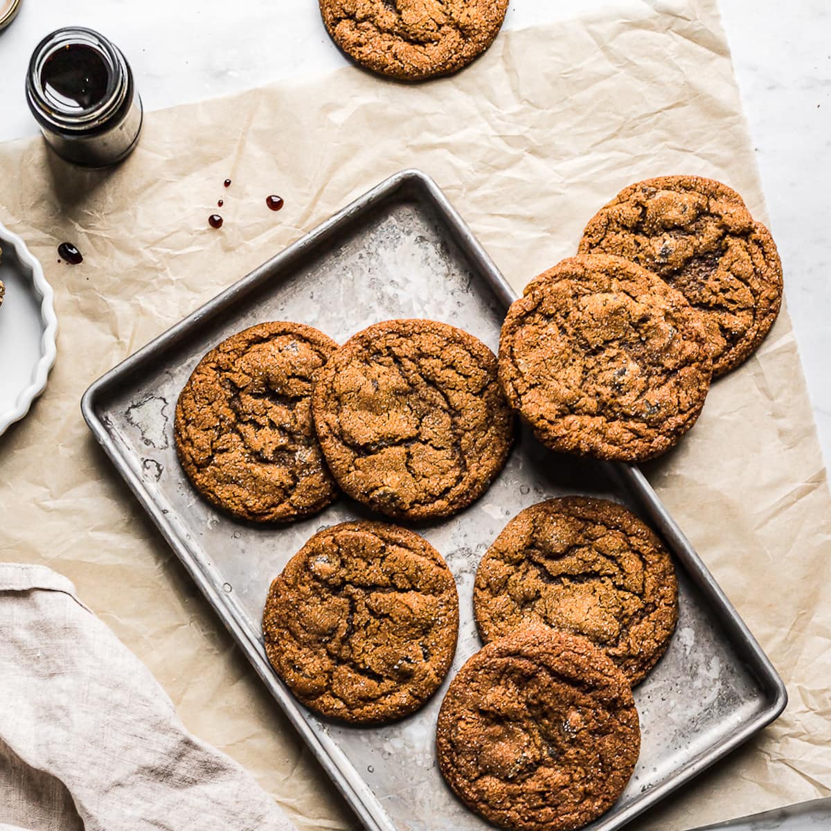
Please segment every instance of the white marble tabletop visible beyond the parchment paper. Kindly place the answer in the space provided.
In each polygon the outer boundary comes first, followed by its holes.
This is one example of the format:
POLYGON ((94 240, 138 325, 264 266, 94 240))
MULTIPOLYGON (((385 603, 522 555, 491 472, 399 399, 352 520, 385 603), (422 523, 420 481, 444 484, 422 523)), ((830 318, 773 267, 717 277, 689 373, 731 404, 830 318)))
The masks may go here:
MULTIPOLYGON (((670 2, 670 0, 652 0, 670 2)), ((814 416, 831 460, 831 4, 720 0, 771 227, 785 268, 814 416)), ((506 26, 567 17, 584 0, 514 0, 506 26)), ((147 109, 312 76, 344 58, 314 0, 22 0, 0 32, 0 140, 37 132, 23 97, 28 57, 52 29, 104 32, 140 78, 147 109)), ((2 183, 0 183, 2 187, 2 183)))

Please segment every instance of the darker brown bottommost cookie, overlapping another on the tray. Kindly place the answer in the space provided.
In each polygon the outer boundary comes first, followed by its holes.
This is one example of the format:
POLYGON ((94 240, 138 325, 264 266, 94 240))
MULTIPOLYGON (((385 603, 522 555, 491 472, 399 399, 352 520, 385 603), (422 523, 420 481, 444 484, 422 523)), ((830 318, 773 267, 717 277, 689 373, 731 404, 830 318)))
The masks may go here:
POLYGON ((626 676, 586 638, 547 627, 489 643, 450 682, 437 726, 455 794, 514 831, 571 831, 622 794, 641 745, 626 676))

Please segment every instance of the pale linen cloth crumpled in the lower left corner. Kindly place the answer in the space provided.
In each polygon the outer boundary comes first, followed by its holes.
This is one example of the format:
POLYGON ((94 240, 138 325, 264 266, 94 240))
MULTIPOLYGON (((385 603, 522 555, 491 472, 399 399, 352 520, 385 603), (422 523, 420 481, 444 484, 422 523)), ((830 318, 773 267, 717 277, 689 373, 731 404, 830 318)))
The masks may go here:
POLYGON ((66 578, 15 564, 0 564, 2 829, 296 831, 249 774, 184 729, 66 578))

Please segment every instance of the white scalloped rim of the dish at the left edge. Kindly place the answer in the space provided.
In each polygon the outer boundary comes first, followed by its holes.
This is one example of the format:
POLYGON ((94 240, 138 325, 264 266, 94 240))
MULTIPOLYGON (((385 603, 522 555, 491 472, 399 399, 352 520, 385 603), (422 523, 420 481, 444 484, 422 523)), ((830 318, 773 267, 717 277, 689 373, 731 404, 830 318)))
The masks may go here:
POLYGON ((41 352, 42 355, 34 366, 33 380, 18 393, 17 399, 10 410, 0 412, 0 435, 6 432, 8 427, 19 421, 27 414, 32 401, 46 389, 49 379, 49 371, 55 363, 57 356, 57 317, 53 303, 54 293, 52 286, 47 283, 43 276, 43 268, 40 261, 32 254, 26 243, 13 234, 0 222, 0 242, 10 248, 14 248, 17 260, 24 271, 28 270, 29 278, 32 281, 32 291, 41 297, 41 352))

